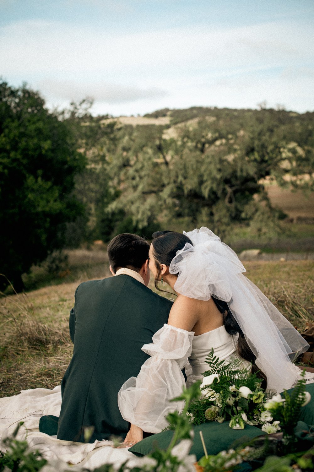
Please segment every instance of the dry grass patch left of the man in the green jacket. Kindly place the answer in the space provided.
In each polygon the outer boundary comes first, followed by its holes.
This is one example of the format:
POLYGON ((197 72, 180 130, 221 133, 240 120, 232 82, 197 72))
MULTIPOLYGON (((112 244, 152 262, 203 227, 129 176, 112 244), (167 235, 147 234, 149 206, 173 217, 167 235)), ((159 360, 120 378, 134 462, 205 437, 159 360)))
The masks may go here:
POLYGON ((1 396, 58 385, 72 354, 68 312, 77 284, 0 301, 1 396))

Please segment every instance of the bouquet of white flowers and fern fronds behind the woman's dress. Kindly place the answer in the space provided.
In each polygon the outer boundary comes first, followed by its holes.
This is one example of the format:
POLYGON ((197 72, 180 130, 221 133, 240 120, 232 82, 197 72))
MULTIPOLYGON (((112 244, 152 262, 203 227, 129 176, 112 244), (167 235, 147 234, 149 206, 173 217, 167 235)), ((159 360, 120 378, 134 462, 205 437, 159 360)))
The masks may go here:
POLYGON ((230 428, 244 429, 246 424, 260 425, 273 433, 280 430, 279 421, 264 406, 265 391, 261 379, 246 368, 241 369, 238 359, 229 364, 210 352, 206 359, 209 370, 204 372, 200 385, 202 396, 191 403, 187 415, 195 425, 205 421, 229 421, 230 428))

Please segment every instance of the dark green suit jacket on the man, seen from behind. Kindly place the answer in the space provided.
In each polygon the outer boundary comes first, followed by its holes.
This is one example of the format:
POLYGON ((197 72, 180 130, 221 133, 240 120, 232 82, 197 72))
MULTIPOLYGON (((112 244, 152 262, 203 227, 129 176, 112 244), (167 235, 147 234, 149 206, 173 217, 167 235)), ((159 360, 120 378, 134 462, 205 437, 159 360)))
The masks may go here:
POLYGON ((84 442, 125 437, 129 423, 118 408, 122 384, 149 357, 141 348, 167 323, 172 302, 128 275, 84 282, 70 312, 73 357, 61 384, 59 439, 84 442))

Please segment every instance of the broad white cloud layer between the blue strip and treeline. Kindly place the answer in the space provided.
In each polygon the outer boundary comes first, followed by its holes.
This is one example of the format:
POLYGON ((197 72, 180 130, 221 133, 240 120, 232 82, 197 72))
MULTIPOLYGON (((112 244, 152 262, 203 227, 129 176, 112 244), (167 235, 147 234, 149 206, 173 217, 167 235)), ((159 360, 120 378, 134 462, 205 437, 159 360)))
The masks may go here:
POLYGON ((28 81, 50 102, 92 95, 95 109, 110 104, 112 114, 263 100, 313 109, 313 50, 310 25, 297 22, 110 35, 29 20, 0 30, 6 78, 28 81))

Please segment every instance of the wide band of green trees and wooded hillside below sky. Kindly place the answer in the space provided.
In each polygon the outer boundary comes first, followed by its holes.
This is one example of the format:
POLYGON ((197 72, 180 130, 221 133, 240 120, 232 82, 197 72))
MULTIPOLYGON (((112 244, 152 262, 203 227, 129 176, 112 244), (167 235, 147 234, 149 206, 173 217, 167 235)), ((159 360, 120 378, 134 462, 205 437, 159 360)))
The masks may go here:
POLYGON ((0 82, 0 271, 16 287, 33 263, 82 238, 150 238, 177 221, 260 234, 283 216, 267 180, 313 190, 314 113, 163 109, 131 126, 93 117, 92 103, 49 112, 38 93, 0 82))

